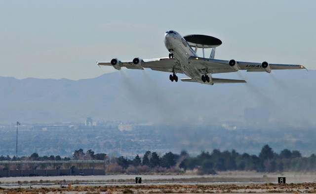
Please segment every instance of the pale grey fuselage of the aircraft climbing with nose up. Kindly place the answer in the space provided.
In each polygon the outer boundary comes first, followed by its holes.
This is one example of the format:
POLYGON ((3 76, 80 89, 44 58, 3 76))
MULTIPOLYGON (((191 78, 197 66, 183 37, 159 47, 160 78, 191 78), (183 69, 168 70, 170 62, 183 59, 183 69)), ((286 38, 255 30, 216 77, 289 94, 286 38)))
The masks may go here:
POLYGON ((203 74, 189 63, 189 57, 197 56, 187 41, 175 31, 168 31, 164 36, 164 44, 168 51, 173 54, 175 60, 181 65, 182 71, 193 79, 200 79, 203 74))

